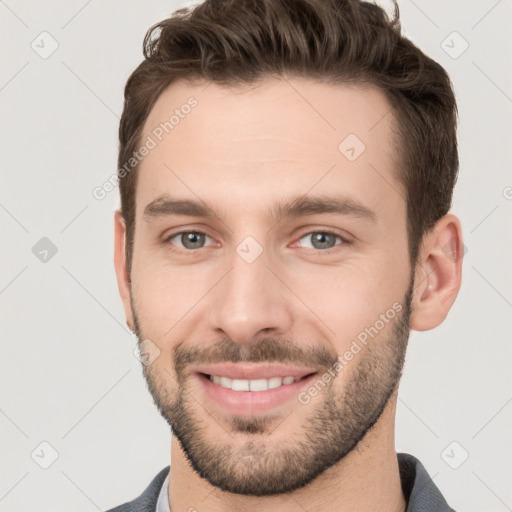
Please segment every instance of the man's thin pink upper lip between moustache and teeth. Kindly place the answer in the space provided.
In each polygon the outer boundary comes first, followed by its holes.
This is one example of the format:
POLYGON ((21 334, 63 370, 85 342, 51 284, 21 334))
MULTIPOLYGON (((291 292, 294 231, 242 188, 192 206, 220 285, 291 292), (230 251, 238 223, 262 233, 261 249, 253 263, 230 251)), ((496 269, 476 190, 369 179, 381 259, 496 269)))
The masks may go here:
POLYGON ((241 363, 198 366, 195 368, 195 371, 207 375, 242 380, 270 379, 272 377, 305 377, 310 373, 316 373, 314 368, 285 365, 248 365, 241 363))

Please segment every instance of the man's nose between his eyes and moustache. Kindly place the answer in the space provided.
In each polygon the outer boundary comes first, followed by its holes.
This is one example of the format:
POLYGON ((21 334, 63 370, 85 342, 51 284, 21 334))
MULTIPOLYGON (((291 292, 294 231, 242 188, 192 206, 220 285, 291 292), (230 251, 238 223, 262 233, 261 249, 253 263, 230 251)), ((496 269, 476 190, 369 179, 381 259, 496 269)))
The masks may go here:
POLYGON ((210 327, 240 344, 263 333, 282 336, 293 325, 292 295, 279 272, 267 266, 265 252, 251 263, 235 252, 231 270, 215 287, 210 327))

